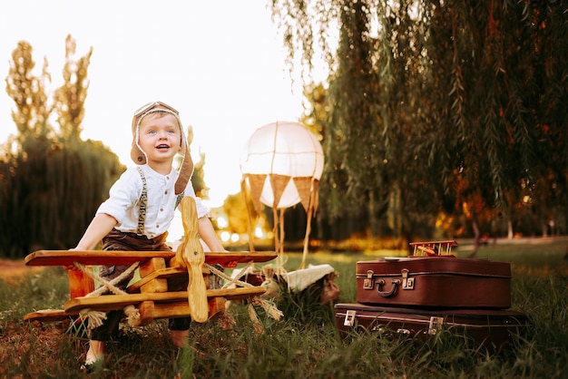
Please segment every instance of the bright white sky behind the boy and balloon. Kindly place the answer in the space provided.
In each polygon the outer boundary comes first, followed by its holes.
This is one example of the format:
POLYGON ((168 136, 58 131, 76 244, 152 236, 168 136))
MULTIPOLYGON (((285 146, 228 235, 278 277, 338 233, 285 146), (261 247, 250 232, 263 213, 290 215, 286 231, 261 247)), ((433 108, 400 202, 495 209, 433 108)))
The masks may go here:
POLYGON ((298 121, 301 88, 268 1, 17 0, 0 4, 0 142, 15 134, 4 79, 19 41, 44 57, 54 91, 63 83, 65 37, 79 59, 93 47, 83 139, 103 141, 132 166, 132 113, 160 100, 192 126, 194 160, 205 158, 210 208, 240 191, 246 141, 274 121, 298 121))

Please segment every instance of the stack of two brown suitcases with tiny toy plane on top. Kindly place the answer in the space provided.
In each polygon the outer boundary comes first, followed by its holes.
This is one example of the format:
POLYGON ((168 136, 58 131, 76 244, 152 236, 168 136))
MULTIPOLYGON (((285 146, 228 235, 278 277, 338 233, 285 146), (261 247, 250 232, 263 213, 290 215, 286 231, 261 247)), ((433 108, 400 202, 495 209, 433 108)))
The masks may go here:
POLYGON ((528 317, 510 310, 511 266, 455 258, 455 241, 412 243, 408 258, 357 262, 357 303, 335 306, 341 332, 365 328, 428 338, 446 329, 500 351, 528 317))

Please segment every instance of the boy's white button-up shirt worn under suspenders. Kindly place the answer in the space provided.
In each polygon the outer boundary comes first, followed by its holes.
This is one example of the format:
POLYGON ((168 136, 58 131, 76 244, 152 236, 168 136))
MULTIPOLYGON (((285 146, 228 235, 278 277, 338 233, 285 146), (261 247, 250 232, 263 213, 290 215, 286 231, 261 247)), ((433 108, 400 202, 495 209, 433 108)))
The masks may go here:
MULTIPOLYGON (((175 180, 178 179, 178 172, 172 168, 171 173, 164 176, 152 170, 147 164, 139 167, 142 168, 146 177, 148 196, 144 235, 148 238, 155 238, 170 228, 177 199, 173 185, 175 180)), ((122 232, 136 233, 141 196, 142 178, 140 172, 136 167, 128 168, 114 182, 110 190, 110 198, 101 204, 96 213, 106 213, 113 216, 118 221, 116 229, 122 232)), ((207 215, 208 209, 201 203, 201 199, 195 196, 191 180, 188 181, 184 196, 191 196, 195 199, 198 219, 207 215)))

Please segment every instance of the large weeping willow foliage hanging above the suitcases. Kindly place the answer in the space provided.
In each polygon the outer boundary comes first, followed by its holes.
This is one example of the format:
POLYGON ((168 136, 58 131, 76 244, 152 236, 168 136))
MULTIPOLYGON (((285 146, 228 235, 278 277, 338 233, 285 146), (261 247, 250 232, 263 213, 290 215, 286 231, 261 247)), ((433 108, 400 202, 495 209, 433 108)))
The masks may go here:
POLYGON ((511 219, 523 199, 549 195, 536 207, 565 214, 559 3, 273 1, 302 79, 316 58, 328 68, 322 207, 386 200, 403 233, 441 210, 467 214, 475 230, 479 209, 511 219), (334 197, 338 172, 347 190, 334 197))

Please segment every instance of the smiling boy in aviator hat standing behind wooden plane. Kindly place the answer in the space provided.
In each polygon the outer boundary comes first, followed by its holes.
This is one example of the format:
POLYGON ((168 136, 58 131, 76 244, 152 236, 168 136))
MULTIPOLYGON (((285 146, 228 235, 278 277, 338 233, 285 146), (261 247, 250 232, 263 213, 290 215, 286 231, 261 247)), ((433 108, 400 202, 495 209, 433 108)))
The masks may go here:
MULTIPOLYGON (((134 112, 131 158, 137 167, 124 171, 113 184, 110 198, 97 210, 73 250, 92 250, 101 240, 103 250, 171 250, 166 237, 174 210, 181 197, 191 196, 196 200, 198 232, 207 245, 206 251, 226 251, 207 217, 207 209, 191 186, 193 162, 175 109, 163 102, 150 102, 134 112), (172 167, 178 152, 183 155, 179 172, 172 167)), ((235 267, 236 262, 227 266, 235 267)), ((103 266, 99 274, 112 280, 127 268, 103 266)), ((131 278, 122 280, 117 287, 124 289, 131 278)), ((111 311, 102 326, 93 328, 85 365, 103 359, 104 341, 118 333, 121 318, 122 311, 111 311)), ((171 338, 177 347, 186 343, 190 322, 189 318, 170 320, 171 338)))

